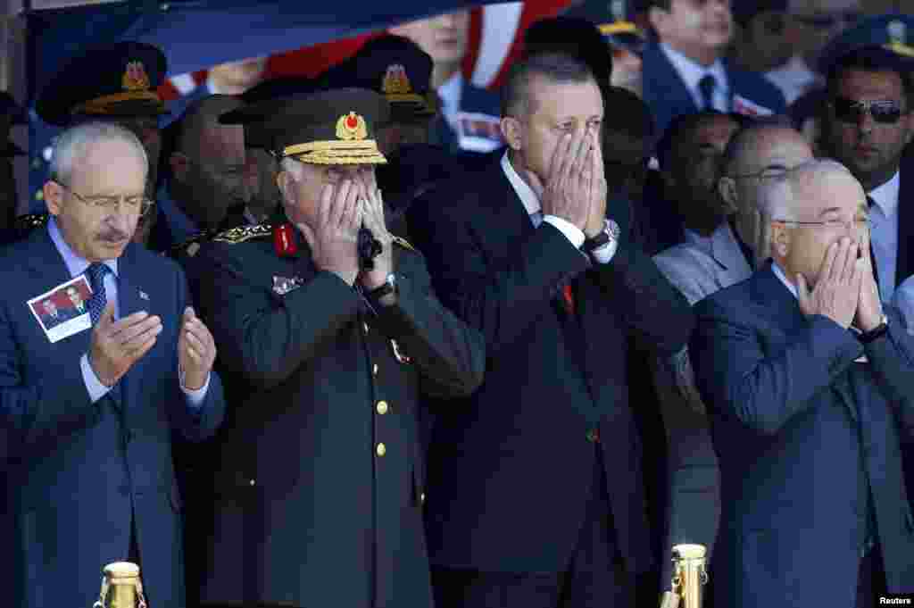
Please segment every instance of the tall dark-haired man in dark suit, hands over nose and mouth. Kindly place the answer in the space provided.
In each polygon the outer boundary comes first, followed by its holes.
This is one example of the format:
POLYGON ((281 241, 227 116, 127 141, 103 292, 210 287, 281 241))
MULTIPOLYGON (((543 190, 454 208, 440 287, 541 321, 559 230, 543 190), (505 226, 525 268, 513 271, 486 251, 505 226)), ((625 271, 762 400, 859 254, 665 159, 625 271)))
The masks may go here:
POLYGON ((503 110, 509 152, 409 210, 437 293, 488 350, 483 386, 432 434, 436 603, 632 606, 653 555, 624 357, 630 336, 683 347, 688 304, 607 219, 590 70, 533 55, 503 110))

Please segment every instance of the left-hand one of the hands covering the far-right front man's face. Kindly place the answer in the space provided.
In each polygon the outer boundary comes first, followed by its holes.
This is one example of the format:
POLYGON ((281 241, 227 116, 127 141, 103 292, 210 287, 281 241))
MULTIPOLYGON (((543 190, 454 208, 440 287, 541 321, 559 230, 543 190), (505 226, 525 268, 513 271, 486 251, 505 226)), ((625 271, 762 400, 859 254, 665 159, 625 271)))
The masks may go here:
POLYGON ((860 300, 863 262, 856 241, 843 237, 825 252, 822 270, 812 293, 805 278, 796 276, 797 297, 803 315, 824 315, 845 329, 850 327, 860 300))

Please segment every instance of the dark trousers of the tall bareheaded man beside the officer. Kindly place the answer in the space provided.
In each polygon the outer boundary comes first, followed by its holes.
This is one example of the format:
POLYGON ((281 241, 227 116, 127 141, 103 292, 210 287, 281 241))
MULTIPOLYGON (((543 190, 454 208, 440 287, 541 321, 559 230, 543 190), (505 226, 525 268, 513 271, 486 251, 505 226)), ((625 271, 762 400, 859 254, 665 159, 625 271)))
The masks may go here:
POLYGON ((594 483, 578 544, 562 572, 431 569, 437 608, 623 608, 633 606, 596 446, 594 483))

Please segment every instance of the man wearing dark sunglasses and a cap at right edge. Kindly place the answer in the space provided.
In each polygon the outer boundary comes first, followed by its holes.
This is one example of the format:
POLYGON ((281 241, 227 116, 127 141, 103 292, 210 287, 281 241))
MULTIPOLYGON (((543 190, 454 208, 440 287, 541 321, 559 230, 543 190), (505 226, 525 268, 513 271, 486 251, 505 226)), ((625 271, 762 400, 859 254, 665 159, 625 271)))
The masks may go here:
MULTIPOLYGON (((914 34, 914 19, 903 19, 914 34)), ((914 158, 905 154, 914 128, 914 59, 881 46, 890 44, 887 30, 904 23, 900 16, 882 19, 834 43, 825 58, 821 108, 824 154, 844 163, 866 190, 879 294, 886 302, 914 273, 914 250, 908 246, 914 238, 909 234, 914 230, 914 158)))

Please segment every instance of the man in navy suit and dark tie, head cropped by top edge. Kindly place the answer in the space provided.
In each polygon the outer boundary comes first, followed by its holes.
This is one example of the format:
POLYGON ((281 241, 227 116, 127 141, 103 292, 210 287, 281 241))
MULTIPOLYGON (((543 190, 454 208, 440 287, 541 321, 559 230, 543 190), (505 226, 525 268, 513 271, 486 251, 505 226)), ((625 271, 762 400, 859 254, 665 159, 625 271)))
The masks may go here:
POLYGON ((727 0, 645 0, 654 40, 644 49, 644 101, 661 133, 680 114, 699 110, 750 116, 782 114, 781 91, 760 74, 731 66, 727 0))

